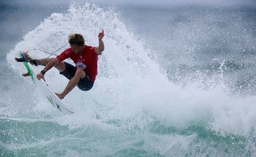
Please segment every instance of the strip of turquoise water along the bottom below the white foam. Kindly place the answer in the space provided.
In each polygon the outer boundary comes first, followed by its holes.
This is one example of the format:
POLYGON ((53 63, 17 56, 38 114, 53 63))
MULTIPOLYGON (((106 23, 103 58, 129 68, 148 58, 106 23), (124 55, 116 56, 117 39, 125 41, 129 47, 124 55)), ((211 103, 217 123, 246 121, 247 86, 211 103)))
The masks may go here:
MULTIPOLYGON (((118 122, 112 125, 118 125, 118 122)), ((253 156, 250 145, 255 143, 255 138, 252 137, 221 135, 199 124, 185 129, 160 125, 159 122, 148 125, 147 131, 141 131, 136 128, 117 129, 118 127, 102 129, 93 125, 69 128, 67 125, 46 120, 1 119, 1 127, 4 128, 1 130, 1 155, 253 156), (191 142, 187 141, 191 139, 191 142), (150 146, 160 142, 168 146, 159 150, 150 146), (161 155, 163 152, 160 151, 164 151, 166 155, 161 155)))

